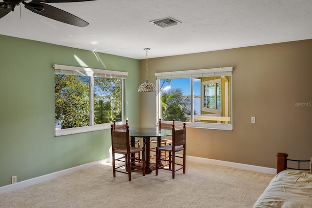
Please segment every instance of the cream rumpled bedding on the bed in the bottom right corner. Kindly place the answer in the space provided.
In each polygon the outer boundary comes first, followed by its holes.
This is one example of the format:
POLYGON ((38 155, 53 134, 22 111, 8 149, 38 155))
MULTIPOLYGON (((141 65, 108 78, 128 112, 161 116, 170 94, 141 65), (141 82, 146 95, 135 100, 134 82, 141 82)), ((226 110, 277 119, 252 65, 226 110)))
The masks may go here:
POLYGON ((298 170, 281 171, 253 208, 312 208, 312 174, 298 170))

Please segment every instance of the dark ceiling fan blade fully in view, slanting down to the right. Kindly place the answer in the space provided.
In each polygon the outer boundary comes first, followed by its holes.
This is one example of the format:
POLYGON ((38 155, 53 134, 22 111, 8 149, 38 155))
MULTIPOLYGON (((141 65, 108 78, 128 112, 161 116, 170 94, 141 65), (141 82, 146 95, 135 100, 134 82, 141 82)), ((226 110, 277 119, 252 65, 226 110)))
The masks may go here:
POLYGON ((89 23, 83 19, 48 4, 30 2, 25 4, 25 8, 44 17, 74 26, 85 27, 89 25, 89 23))

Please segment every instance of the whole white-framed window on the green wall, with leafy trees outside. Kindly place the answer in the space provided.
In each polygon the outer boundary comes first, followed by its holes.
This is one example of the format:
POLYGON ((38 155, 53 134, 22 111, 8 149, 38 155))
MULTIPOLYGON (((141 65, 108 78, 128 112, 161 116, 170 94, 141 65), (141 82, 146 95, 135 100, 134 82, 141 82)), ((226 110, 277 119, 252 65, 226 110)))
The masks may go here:
POLYGON ((123 120, 125 72, 54 65, 56 135, 110 128, 123 120))

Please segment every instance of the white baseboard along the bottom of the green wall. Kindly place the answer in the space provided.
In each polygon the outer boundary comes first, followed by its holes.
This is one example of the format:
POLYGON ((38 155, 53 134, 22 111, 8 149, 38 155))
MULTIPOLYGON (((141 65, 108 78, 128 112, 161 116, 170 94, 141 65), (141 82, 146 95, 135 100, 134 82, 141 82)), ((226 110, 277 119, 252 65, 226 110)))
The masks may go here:
POLYGON ((3 186, 3 187, 0 187, 0 194, 1 193, 7 193, 7 192, 17 190, 17 189, 21 189, 21 188, 25 188, 25 187, 32 186, 35 184, 39 184, 41 182, 49 181, 49 180, 55 179, 55 178, 63 176, 63 175, 68 175, 68 174, 74 173, 74 172, 79 171, 79 170, 89 169, 93 166, 97 166, 97 165, 104 164, 107 162, 109 162, 109 158, 105 158, 102 160, 98 160, 95 162, 87 163, 84 165, 76 166, 76 167, 65 169, 65 170, 60 170, 57 172, 52 172, 52 173, 49 173, 46 175, 41 175, 39 177, 31 178, 31 179, 28 179, 25 181, 21 181, 21 182, 18 182, 16 184, 10 184, 7 186, 3 186))

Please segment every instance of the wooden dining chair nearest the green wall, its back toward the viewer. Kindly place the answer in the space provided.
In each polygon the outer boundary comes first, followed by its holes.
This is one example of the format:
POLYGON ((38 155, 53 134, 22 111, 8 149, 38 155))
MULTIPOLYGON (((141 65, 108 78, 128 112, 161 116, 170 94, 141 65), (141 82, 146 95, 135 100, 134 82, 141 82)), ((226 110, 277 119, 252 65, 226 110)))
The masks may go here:
POLYGON ((112 135, 112 163, 113 163, 113 175, 116 177, 116 172, 128 174, 129 181, 131 181, 131 173, 142 170, 143 176, 145 175, 145 149, 131 147, 129 126, 126 126, 125 130, 115 131, 114 125, 111 125, 112 135), (142 152, 142 159, 132 157, 131 154, 142 152), (122 157, 115 158, 115 153, 122 154, 122 157), (116 167, 116 161, 124 162, 124 164, 116 167), (141 165, 139 165, 141 163, 141 165), (125 170, 123 170, 125 168, 125 170))

